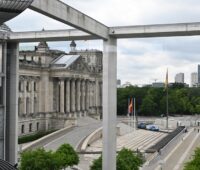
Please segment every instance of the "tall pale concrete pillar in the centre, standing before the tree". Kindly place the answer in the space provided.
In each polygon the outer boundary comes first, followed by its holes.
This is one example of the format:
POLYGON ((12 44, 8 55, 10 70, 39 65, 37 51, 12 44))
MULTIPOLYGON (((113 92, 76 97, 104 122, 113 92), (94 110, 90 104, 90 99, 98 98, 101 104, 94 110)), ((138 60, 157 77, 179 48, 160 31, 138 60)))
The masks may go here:
POLYGON ((104 41, 103 170, 116 170, 117 40, 104 41))

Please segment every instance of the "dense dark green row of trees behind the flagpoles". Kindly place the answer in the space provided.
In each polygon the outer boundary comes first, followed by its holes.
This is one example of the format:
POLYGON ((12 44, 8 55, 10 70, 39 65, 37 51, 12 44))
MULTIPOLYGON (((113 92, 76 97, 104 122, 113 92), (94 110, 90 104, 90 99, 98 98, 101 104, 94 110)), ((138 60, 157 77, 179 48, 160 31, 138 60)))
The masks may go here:
MULTIPOLYGON (((174 85, 169 89, 169 114, 200 114, 200 88, 174 85)), ((166 114, 166 91, 163 88, 134 87, 117 90, 117 113, 126 115, 128 98, 136 98, 136 114, 158 116, 166 114)))

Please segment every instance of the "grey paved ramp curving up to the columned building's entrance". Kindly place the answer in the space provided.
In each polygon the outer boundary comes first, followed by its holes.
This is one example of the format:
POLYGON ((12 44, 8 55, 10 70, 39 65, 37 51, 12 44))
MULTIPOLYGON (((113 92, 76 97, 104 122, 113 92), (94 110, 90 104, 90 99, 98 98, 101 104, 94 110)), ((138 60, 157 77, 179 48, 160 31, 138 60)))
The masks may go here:
POLYGON ((78 119, 77 124, 78 126, 75 127, 72 131, 46 144, 44 148, 46 150, 55 151, 60 145, 64 143, 69 143, 75 148, 82 139, 102 126, 100 121, 91 119, 89 117, 78 119))

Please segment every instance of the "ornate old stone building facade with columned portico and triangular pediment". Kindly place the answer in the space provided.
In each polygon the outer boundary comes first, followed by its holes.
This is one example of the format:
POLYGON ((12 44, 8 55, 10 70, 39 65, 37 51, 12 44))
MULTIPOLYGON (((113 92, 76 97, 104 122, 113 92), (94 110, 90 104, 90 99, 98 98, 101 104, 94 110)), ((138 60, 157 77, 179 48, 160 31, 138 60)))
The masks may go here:
POLYGON ((19 136, 63 128, 102 114, 102 52, 50 50, 41 42, 19 55, 19 136))

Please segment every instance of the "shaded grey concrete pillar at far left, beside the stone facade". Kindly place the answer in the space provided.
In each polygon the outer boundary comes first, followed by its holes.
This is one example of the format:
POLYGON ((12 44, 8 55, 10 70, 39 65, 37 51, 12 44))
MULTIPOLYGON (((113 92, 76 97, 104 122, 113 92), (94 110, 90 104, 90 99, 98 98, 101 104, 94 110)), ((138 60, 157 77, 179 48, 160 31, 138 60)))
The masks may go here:
POLYGON ((19 44, 7 44, 6 160, 17 163, 19 44))

